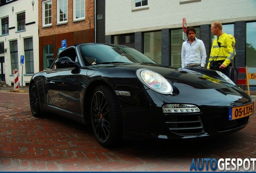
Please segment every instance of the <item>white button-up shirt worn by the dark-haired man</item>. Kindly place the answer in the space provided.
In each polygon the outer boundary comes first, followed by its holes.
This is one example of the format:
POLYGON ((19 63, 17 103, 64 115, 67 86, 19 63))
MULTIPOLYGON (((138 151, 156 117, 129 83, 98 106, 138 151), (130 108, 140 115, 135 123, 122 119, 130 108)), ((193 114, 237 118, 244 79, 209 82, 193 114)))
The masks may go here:
POLYGON ((190 44, 188 39, 182 44, 182 68, 187 64, 201 64, 205 65, 206 50, 204 42, 195 37, 194 42, 190 44))

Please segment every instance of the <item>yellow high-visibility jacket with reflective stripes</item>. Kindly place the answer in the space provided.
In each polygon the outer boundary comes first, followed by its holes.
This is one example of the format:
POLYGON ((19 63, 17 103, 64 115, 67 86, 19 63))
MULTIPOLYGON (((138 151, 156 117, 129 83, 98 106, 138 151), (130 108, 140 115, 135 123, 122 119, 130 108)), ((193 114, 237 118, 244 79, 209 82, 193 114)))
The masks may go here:
POLYGON ((235 38, 231 34, 223 33, 219 38, 213 41, 211 48, 211 54, 207 68, 210 68, 210 62, 212 60, 225 60, 223 64, 228 66, 235 57, 235 38), (220 47, 218 45, 220 44, 220 47))

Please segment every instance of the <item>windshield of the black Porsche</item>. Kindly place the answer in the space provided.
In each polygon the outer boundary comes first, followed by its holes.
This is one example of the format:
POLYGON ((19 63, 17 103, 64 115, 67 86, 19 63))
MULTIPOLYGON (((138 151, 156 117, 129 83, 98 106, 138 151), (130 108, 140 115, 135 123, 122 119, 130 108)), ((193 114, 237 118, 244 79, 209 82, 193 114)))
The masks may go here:
POLYGON ((82 44, 79 47, 85 64, 111 64, 111 63, 153 63, 146 55, 134 48, 107 44, 82 44))

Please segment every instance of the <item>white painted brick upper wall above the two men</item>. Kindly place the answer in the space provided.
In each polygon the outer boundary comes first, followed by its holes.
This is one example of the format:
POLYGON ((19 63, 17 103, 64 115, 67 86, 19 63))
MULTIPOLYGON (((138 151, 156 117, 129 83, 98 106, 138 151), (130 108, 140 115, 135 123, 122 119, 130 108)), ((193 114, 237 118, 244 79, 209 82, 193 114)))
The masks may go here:
POLYGON ((148 0, 148 10, 132 12, 132 0, 106 0, 105 35, 136 31, 181 28, 187 26, 256 20, 256 0, 148 0))

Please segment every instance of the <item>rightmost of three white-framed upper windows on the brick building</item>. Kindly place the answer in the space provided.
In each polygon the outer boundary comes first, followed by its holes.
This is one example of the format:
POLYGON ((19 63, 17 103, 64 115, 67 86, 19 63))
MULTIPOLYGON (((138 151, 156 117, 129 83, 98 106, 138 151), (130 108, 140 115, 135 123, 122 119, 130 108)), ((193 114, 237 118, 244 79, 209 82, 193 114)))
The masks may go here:
POLYGON ((85 19, 85 0, 74 0, 74 19, 85 19))

